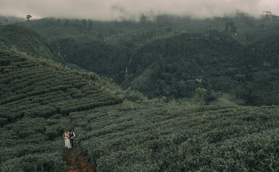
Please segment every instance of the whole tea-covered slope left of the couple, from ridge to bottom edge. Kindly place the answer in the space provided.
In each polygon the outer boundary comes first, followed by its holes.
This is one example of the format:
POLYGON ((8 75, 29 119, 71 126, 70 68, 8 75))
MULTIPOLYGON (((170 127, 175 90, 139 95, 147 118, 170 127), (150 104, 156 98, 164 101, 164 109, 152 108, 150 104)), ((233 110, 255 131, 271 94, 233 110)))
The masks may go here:
POLYGON ((64 171, 69 112, 122 102, 94 73, 12 52, 0 43, 0 171, 64 171))

